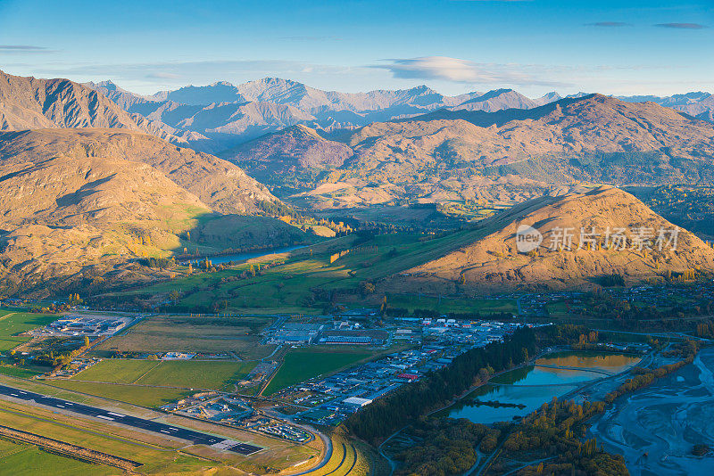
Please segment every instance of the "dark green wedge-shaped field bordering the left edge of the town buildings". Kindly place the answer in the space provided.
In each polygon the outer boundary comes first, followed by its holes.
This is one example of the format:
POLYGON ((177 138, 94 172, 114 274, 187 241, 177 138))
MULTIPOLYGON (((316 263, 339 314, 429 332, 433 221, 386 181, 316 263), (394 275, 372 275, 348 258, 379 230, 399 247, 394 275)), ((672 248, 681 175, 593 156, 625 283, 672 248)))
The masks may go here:
POLYGON ((374 353, 368 351, 355 352, 345 349, 291 349, 287 352, 278 373, 262 393, 269 396, 295 383, 324 373, 336 372, 373 355, 374 353))

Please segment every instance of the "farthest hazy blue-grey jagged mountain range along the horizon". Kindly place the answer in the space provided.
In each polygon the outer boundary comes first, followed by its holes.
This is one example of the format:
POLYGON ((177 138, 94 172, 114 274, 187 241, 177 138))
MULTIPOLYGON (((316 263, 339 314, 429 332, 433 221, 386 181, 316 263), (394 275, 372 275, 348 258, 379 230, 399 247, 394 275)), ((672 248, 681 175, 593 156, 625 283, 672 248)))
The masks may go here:
MULTIPOLYGON (((263 78, 237 86, 220 81, 149 96, 129 93, 111 81, 87 83, 87 86, 105 94, 124 110, 150 119, 163 130, 186 138, 192 147, 208 152, 220 152, 297 124, 331 132, 412 118, 444 108, 495 112, 533 109, 562 99, 555 92, 531 99, 512 89, 444 96, 427 86, 351 94, 322 91, 281 78, 263 78)), ((652 101, 704 120, 710 120, 714 111, 714 98, 708 93, 619 99, 638 103, 652 101)))

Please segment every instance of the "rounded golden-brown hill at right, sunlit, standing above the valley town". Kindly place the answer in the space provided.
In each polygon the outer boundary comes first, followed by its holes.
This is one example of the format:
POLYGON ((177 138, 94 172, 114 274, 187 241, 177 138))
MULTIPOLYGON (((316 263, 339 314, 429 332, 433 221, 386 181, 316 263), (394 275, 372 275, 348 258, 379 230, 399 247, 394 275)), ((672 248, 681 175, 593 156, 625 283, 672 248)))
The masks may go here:
POLYGON ((635 283, 714 271, 714 250, 707 243, 683 229, 672 232, 676 226, 633 195, 609 186, 560 193, 526 201, 484 220, 477 226, 483 238, 394 276, 390 284, 406 282, 409 287, 419 287, 429 283, 444 290, 457 286, 559 288, 600 283, 608 275, 621 275, 627 283, 635 283), (534 251, 519 250, 519 226, 531 226, 543 236, 534 251), (581 228, 585 231, 582 236, 581 228), (621 232, 627 236, 625 249, 621 249, 618 229, 625 230, 621 232), (662 240, 658 242, 660 230, 662 240), (563 249, 568 241, 563 237, 568 234, 571 250, 563 249), (670 242, 673 235, 676 249, 670 242), (552 250, 553 244, 556 250, 552 250))

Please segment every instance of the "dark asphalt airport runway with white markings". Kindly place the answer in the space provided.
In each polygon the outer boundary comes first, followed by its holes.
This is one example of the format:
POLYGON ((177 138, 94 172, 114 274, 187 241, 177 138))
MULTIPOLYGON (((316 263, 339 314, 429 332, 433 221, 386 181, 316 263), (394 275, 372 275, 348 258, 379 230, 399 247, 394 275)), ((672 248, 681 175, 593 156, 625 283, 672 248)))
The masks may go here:
POLYGON ((253 455, 253 453, 257 453, 262 450, 262 447, 241 443, 240 441, 222 439, 220 437, 200 433, 198 431, 187 430, 185 428, 179 428, 165 423, 157 423, 151 420, 137 418, 136 416, 129 416, 128 414, 109 412, 102 410, 101 408, 95 408, 94 406, 68 402, 66 400, 62 400, 61 398, 47 397, 31 391, 13 389, 12 387, 6 387, 4 385, 0 385, 0 395, 6 395, 8 397, 18 398, 28 402, 35 402, 37 404, 50 406, 52 408, 60 408, 64 411, 76 414, 86 414, 107 422, 121 423, 123 425, 133 426, 134 428, 140 428, 142 430, 154 431, 154 433, 159 433, 164 436, 187 439, 188 441, 192 441, 196 444, 225 449, 240 455, 253 455))

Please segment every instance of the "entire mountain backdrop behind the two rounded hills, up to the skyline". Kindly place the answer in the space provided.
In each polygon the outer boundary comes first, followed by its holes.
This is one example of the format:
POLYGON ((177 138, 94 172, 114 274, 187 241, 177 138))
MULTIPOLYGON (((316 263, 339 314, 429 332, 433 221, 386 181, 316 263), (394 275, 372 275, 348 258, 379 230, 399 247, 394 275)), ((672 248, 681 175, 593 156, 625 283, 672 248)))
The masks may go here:
POLYGON ((216 151, 280 198, 315 209, 513 203, 573 181, 714 184, 714 126, 693 118, 711 102, 705 93, 530 99, 511 89, 444 96, 419 86, 345 94, 264 78, 143 97, 111 82, 0 79, 2 128, 149 132, 216 151))

